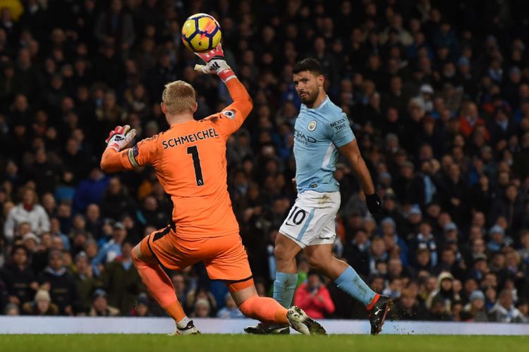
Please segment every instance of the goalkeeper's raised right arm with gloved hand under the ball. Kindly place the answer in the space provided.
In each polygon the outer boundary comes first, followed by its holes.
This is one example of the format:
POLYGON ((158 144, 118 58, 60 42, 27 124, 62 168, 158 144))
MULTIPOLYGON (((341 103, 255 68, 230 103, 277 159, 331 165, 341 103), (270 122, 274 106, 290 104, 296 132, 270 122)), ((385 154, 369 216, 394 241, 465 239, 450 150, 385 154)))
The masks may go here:
POLYGON ((205 65, 195 65, 195 70, 202 73, 218 75, 219 78, 226 84, 233 103, 224 108, 221 113, 212 115, 210 120, 214 120, 221 133, 228 137, 230 134, 238 130, 248 117, 253 108, 253 102, 250 94, 246 88, 238 80, 231 67, 226 63, 224 58, 224 51, 219 44, 215 49, 207 51, 206 53, 196 53, 205 65))

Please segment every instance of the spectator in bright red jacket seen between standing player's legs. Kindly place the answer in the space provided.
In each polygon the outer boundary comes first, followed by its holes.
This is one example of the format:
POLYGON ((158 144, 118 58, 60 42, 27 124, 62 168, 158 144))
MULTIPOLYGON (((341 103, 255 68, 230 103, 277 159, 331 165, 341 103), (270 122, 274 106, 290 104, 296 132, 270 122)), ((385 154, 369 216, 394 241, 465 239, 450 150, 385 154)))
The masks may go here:
POLYGON ((294 294, 294 304, 313 319, 322 319, 325 315, 334 313, 334 302, 329 290, 316 272, 309 272, 307 282, 298 287, 294 294))

